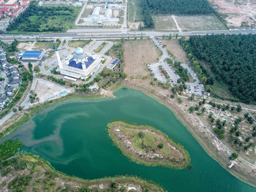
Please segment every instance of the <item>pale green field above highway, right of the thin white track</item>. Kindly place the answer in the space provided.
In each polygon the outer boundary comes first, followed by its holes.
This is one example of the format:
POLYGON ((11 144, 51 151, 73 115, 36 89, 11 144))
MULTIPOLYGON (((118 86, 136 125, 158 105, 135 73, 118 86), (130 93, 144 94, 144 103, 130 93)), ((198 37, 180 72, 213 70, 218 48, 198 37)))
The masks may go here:
POLYGON ((179 15, 176 20, 182 31, 225 29, 215 15, 179 15))

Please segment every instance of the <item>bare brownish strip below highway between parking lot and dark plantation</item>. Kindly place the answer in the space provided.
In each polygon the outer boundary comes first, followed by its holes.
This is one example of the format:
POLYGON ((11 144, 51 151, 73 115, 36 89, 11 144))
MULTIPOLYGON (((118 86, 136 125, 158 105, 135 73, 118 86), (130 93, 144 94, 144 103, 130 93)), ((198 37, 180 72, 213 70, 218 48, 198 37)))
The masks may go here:
POLYGON ((172 53, 174 60, 180 61, 181 63, 189 62, 187 58, 187 53, 183 50, 178 42, 178 39, 162 40, 162 45, 166 45, 165 49, 172 53))

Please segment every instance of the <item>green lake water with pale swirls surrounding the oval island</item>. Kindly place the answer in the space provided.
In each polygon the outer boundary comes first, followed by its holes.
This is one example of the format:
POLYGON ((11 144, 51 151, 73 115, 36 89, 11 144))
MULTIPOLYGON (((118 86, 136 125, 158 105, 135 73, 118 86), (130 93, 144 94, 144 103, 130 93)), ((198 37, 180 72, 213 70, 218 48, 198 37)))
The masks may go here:
POLYGON ((227 172, 203 150, 167 107, 140 91, 122 88, 115 99, 76 100, 39 112, 8 138, 40 155, 60 172, 84 179, 132 174, 167 191, 256 191, 227 172), (186 147, 192 171, 143 166, 129 161, 110 142, 110 120, 153 126, 186 147))

